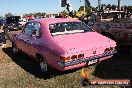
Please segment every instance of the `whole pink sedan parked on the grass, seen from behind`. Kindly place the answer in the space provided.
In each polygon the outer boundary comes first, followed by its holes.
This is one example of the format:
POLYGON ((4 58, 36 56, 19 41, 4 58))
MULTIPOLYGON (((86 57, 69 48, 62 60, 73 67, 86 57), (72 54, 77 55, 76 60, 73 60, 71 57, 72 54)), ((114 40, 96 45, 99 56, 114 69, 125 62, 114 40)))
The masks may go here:
POLYGON ((26 53, 49 67, 65 71, 91 65, 117 53, 116 42, 74 18, 35 19, 13 35, 13 51, 26 53))

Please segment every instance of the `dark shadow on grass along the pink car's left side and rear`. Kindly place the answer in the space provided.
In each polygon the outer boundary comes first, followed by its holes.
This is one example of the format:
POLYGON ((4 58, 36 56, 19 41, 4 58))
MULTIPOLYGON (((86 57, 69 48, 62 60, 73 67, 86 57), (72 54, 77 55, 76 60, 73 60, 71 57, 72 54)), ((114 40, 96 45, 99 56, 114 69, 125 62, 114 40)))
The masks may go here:
POLYGON ((25 71, 29 72, 30 74, 34 75, 37 78, 40 79, 50 79, 53 78, 55 76, 59 76, 59 75, 64 75, 64 74, 69 74, 72 72, 75 72, 77 69, 75 70, 69 70, 69 71, 58 71, 55 69, 50 69, 50 74, 45 75, 43 74, 43 72, 41 71, 39 64, 34 61, 33 59, 31 59, 30 57, 24 55, 24 54, 20 54, 20 55, 15 55, 12 51, 11 47, 8 48, 4 48, 3 51, 12 59, 12 61, 14 61, 18 66, 20 66, 21 68, 23 68, 25 71))

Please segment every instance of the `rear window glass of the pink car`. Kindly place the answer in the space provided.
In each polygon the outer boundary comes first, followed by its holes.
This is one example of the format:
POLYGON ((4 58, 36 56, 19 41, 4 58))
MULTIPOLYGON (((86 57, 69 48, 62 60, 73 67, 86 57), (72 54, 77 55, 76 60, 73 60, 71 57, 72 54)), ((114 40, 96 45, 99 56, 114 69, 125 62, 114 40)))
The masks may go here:
POLYGON ((54 35, 64 35, 64 34, 72 34, 72 33, 84 33, 84 32, 92 32, 87 25, 82 22, 62 22, 50 24, 50 33, 54 35))

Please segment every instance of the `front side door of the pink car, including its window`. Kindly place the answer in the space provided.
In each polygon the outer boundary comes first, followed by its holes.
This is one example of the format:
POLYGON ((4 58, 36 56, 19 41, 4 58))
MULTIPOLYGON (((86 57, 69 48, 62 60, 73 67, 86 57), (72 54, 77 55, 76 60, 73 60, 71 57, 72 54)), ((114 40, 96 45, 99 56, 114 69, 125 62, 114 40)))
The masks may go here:
POLYGON ((19 41, 17 42, 17 47, 26 54, 28 54, 28 42, 29 42, 29 37, 32 34, 32 29, 33 29, 33 24, 27 23, 23 31, 18 36, 19 41))

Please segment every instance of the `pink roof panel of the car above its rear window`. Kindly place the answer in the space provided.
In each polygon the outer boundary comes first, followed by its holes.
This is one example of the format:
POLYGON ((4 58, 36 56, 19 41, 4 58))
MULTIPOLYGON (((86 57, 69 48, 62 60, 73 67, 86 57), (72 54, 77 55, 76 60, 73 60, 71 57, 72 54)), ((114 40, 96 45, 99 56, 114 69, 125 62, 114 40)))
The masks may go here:
POLYGON ((41 19, 34 19, 31 22, 40 22, 46 24, 53 24, 53 23, 60 23, 60 22, 80 22, 77 18, 41 18, 41 19))

